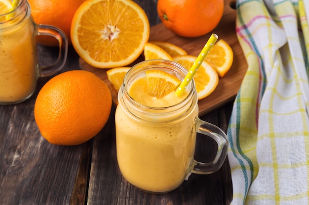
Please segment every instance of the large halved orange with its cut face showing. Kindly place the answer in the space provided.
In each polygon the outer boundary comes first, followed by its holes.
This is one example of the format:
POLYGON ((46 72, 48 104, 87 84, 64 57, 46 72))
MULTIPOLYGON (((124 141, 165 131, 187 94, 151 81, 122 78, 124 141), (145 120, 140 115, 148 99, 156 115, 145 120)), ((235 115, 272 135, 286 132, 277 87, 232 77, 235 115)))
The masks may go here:
POLYGON ((132 0, 87 0, 77 9, 71 26, 77 54, 97 68, 130 64, 149 39, 145 11, 132 0))

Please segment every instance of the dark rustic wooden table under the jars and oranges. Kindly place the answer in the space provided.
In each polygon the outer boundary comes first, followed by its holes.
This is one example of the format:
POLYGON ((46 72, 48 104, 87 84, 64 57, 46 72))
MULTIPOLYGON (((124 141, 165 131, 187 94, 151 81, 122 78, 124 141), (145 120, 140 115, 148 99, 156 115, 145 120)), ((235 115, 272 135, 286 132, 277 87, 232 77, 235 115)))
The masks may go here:
MULTIPOLYGON (((156 0, 135 0, 146 11, 151 25, 159 23, 156 0)), ((38 46, 39 60, 49 64, 57 49, 38 46)), ((69 47, 61 72, 80 69, 78 55, 69 47)), ((55 146, 45 141, 34 119, 34 104, 42 86, 25 102, 0 106, 0 205, 228 205, 232 180, 228 158, 211 175, 192 175, 176 190, 149 194, 130 185, 116 161, 115 108, 102 131, 79 146, 55 146)), ((225 132, 232 102, 202 116, 225 132)), ((215 143, 198 137, 196 159, 211 161, 215 143), (200 153, 204 154, 200 154, 200 153)))

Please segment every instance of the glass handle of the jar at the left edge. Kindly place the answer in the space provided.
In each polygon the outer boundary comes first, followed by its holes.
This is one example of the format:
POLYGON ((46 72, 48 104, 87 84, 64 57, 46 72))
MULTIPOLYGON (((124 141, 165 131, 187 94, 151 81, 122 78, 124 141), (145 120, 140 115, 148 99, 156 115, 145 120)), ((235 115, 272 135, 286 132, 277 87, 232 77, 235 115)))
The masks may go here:
POLYGON ((46 77, 56 74, 60 71, 64 64, 66 63, 66 59, 68 56, 68 37, 66 34, 57 27, 50 25, 38 25, 38 33, 37 35, 49 35, 55 37, 59 42, 59 56, 55 63, 40 67, 39 77, 46 77))

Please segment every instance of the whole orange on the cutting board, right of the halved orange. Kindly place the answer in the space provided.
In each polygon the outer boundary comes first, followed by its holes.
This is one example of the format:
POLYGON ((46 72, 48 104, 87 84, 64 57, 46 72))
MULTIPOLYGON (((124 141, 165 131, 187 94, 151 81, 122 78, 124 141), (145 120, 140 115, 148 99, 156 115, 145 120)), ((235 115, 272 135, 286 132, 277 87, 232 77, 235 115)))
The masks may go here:
POLYGON ((213 30, 220 22, 224 0, 158 0, 162 23, 176 34, 196 37, 213 30))

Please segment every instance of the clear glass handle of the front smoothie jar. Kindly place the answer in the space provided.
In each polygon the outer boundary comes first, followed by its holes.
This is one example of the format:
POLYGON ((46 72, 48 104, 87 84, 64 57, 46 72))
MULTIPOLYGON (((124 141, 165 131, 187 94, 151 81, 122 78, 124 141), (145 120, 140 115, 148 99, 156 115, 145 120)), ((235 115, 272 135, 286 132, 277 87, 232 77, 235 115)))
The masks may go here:
POLYGON ((228 137, 222 129, 209 122, 205 122, 197 118, 196 132, 211 137, 218 144, 217 154, 212 162, 198 162, 194 159, 193 170, 194 174, 211 174, 218 171, 223 165, 228 153, 228 137))

